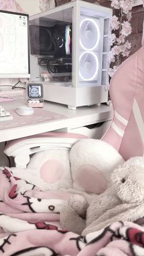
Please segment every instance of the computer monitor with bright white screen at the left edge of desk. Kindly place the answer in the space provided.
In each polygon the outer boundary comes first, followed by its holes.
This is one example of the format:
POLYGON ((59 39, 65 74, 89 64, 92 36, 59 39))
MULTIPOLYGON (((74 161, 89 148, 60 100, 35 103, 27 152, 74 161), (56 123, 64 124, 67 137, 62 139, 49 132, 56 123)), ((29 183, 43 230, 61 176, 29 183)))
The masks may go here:
POLYGON ((29 77, 29 15, 0 10, 0 78, 29 77))

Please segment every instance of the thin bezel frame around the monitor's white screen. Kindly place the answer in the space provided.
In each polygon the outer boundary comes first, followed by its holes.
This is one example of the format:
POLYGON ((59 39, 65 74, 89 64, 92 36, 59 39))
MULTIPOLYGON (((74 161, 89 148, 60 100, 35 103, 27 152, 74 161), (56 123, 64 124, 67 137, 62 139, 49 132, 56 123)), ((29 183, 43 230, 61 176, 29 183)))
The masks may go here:
POLYGON ((30 78, 30 49, 29 49, 29 15, 27 13, 0 10, 0 13, 11 13, 13 15, 23 15, 27 17, 27 54, 28 54, 28 73, 1 73, 0 78, 30 78))

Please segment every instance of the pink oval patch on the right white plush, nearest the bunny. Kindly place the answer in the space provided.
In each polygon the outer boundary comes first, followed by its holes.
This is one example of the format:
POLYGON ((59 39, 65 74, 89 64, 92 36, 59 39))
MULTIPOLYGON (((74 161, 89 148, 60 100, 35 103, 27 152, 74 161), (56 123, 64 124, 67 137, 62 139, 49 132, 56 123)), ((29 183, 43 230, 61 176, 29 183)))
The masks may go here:
POLYGON ((81 166, 77 170, 76 183, 78 183, 84 191, 95 194, 103 193, 107 188, 107 181, 103 174, 94 166, 81 166))

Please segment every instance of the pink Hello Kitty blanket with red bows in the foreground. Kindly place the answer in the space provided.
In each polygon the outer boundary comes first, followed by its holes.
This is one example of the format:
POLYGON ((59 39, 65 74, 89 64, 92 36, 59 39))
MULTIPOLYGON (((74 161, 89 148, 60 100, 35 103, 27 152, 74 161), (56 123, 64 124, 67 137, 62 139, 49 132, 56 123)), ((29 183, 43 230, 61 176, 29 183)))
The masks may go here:
POLYGON ((62 230, 59 212, 69 196, 42 192, 0 168, 0 255, 144 255, 144 229, 132 222, 113 222, 86 236, 62 230))

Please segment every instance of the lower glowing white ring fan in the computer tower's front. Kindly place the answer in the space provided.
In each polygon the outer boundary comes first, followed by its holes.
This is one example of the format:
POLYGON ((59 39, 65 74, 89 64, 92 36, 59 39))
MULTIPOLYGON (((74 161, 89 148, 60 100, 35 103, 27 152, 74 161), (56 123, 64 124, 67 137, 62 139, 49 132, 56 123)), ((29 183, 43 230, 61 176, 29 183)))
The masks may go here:
POLYGON ((79 76, 82 80, 92 81, 96 77, 99 68, 98 57, 96 56, 96 54, 91 51, 86 51, 82 53, 79 58, 79 65, 79 76), (87 78, 85 78, 82 73, 84 73, 87 78))

